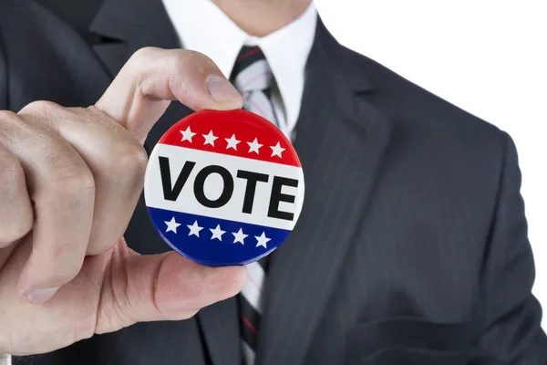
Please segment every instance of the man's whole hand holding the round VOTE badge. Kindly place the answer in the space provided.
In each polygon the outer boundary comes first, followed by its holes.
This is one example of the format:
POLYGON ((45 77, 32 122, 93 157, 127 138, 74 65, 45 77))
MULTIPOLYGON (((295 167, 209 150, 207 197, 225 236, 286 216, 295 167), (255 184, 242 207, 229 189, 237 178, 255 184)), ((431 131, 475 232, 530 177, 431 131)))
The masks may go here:
POLYGON ((122 237, 142 191, 141 143, 170 100, 193 110, 243 104, 211 59, 143 48, 95 106, 0 111, 0 353, 190 318, 241 290, 243 267, 139 255, 122 237))

